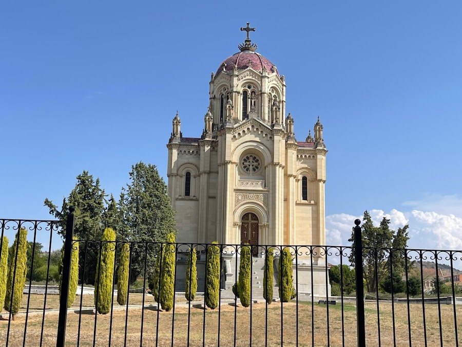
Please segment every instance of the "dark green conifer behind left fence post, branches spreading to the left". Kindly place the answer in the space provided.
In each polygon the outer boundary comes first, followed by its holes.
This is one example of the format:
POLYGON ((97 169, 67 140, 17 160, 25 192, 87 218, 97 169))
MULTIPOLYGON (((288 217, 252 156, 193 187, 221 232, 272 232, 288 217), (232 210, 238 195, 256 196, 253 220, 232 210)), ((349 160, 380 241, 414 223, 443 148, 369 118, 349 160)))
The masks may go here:
MULTIPOLYGON (((77 177, 74 189, 70 192, 68 198, 63 199, 61 211, 49 199, 45 199, 45 206, 49 208, 50 214, 55 218, 63 221, 66 225, 67 211, 70 205, 75 207, 75 239, 80 240, 101 240, 103 229, 103 212, 104 207, 104 190, 100 187, 100 179, 93 179, 88 171, 83 171, 77 177)), ((64 236, 65 228, 61 230, 64 236)), ((98 263, 97 243, 88 243, 87 252, 80 250, 80 271, 83 272, 84 283, 93 284, 95 279, 95 269, 98 263), (86 261, 84 260, 86 255, 86 261), (86 262, 84 268, 83 263, 86 262)), ((35 267, 35 266, 34 266, 35 267)))

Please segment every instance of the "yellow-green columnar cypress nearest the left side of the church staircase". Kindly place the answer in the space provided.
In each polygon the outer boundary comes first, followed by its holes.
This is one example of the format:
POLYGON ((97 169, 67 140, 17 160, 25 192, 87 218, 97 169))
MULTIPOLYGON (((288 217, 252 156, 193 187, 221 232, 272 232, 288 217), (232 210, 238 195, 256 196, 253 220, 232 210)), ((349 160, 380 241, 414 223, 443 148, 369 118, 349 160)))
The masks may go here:
POLYGON ((218 242, 212 242, 207 249, 207 264, 205 279, 205 304, 211 309, 218 306, 220 298, 220 247, 218 242))

